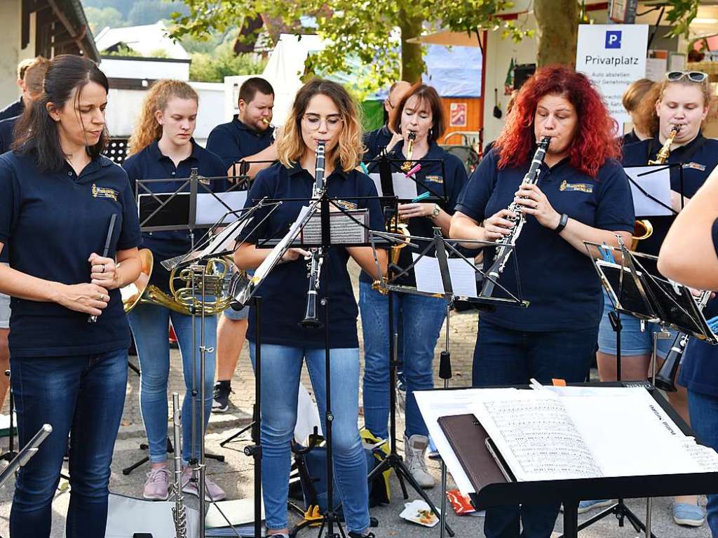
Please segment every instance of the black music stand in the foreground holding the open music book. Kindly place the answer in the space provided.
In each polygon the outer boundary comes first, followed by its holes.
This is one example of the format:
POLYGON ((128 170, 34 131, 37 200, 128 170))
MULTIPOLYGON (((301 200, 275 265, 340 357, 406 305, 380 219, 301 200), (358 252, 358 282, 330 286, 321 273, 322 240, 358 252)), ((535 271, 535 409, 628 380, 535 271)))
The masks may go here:
MULTIPOLYGON (((572 386, 636 386, 635 383, 600 383, 600 384, 572 384, 572 386)), ((516 387, 526 388, 526 387, 516 387)), ((673 422, 686 435, 692 435, 688 425, 673 411, 663 396, 653 387, 647 386, 651 396, 663 408, 673 422)), ((452 390, 452 389, 449 389, 452 390)), ((455 390, 455 389, 454 389, 455 390)), ((714 491, 717 473, 681 473, 666 475, 648 476, 620 476, 603 478, 583 478, 571 480, 551 481, 511 481, 503 474, 496 463, 496 459, 490 454, 485 440, 488 434, 473 417, 473 415, 458 415, 452 417, 463 421, 463 424, 472 424, 470 436, 462 436, 460 440, 455 437, 454 442, 471 450, 475 455, 471 468, 462 462, 462 467, 467 471, 475 493, 470 493, 472 505, 477 510, 483 510, 492 506, 516 505, 522 503, 546 503, 546 501, 560 501, 564 505, 564 533, 563 537, 575 538, 581 529, 587 527, 589 521, 596 521, 595 516, 583 524, 578 524, 578 505, 584 498, 616 498, 624 496, 627 498, 652 498, 663 496, 675 496, 685 493, 710 493, 714 491), (467 443, 467 437, 470 442, 467 443)), ((444 429, 444 431, 447 431, 444 429)), ((607 509, 605 516, 612 514, 612 509, 607 509)), ((635 516, 634 516, 635 517, 635 516)), ((640 521, 630 519, 634 527, 638 524, 640 529, 645 530, 640 521)), ((651 534, 653 536, 653 534, 651 534)))

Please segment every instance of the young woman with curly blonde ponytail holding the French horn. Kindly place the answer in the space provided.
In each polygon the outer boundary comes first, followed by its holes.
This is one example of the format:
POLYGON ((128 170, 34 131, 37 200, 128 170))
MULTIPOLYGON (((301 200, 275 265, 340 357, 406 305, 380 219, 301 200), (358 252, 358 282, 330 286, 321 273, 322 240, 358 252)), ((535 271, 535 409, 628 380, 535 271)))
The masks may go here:
MULTIPOLYGON (((169 180, 190 176, 192 168, 200 175, 225 175, 222 159, 198 146, 192 133, 197 121, 197 93, 180 80, 158 80, 150 88, 142 106, 138 124, 130 139, 129 157, 123 164, 132 185, 136 180, 168 179, 145 185, 154 193, 173 193, 181 182, 169 180)), ((213 187, 224 187, 213 182, 213 187)), ((197 238, 201 233, 197 233, 197 238)), ((169 292, 169 273, 160 261, 185 254, 192 248, 187 231, 143 233, 143 246, 152 251, 154 267, 149 283, 169 292)), ((200 425, 202 402, 192 396, 192 379, 200 380, 200 361, 193 361, 192 317, 157 305, 137 305, 129 314, 141 375, 140 407, 149 442, 150 471, 143 496, 151 500, 167 500, 169 496, 169 468, 167 466, 167 379, 169 376, 169 342, 167 327, 172 322, 180 344, 185 374, 185 400, 182 403, 182 460, 199 458, 200 438, 204 435, 212 409, 212 388, 215 375, 215 355, 205 354, 205 424, 200 425), (194 368, 194 372, 192 369, 194 368), (194 400, 194 401, 193 401, 194 400), (195 417, 192 419, 192 410, 195 417), (195 432, 192 432, 195 424, 195 432), (194 433, 194 435, 192 435, 194 433)), ((217 319, 205 317, 205 346, 215 347, 217 319)), ((195 342, 200 343, 202 323, 195 323, 195 342)), ((200 381, 197 381, 198 383, 200 381)), ((175 447, 175 450, 180 450, 175 447)), ((198 495, 197 482, 191 481, 191 470, 185 468, 183 491, 198 495)), ((224 491, 207 479, 208 500, 220 500, 224 491)))

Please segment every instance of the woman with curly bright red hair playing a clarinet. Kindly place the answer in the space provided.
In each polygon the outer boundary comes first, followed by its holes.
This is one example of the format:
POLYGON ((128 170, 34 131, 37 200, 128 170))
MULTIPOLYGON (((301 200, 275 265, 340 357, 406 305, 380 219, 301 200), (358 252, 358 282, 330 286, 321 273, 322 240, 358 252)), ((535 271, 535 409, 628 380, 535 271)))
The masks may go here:
MULTIPOLYGON (((495 241, 508 235, 514 223, 506 208, 514 201, 527 217, 499 282, 530 305, 482 313, 473 386, 586 379, 602 293, 584 241, 617 246, 616 234, 630 241, 633 231, 633 201, 617 161, 615 132, 585 75, 565 66, 541 68, 521 88, 495 147, 460 195, 452 238, 495 241), (521 185, 544 136, 551 143, 538 184, 521 185)), ((485 268, 493 255, 494 249, 484 252, 485 268)), ((507 297, 498 286, 494 295, 507 297)), ((558 512, 558 503, 488 509, 484 532, 488 538, 549 537, 558 512)))

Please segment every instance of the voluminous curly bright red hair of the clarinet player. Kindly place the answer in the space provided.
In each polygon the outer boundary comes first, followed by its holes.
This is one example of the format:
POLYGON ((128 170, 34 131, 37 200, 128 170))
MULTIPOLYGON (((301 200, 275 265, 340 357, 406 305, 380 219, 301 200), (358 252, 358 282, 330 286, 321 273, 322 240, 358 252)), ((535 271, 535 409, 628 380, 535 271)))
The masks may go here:
POLYGON ((620 159, 617 123, 589 78, 566 65, 536 70, 526 81, 513 103, 506 124, 496 140, 498 167, 518 167, 528 162, 536 143, 533 121, 536 105, 546 95, 559 95, 576 108, 577 131, 569 147, 572 166, 591 177, 607 159, 620 159))

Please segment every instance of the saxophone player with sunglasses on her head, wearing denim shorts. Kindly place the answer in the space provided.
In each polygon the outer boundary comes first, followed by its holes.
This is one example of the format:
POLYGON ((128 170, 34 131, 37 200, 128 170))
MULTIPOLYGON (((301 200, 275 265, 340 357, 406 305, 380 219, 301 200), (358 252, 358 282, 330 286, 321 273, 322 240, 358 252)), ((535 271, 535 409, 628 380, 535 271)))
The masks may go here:
MULTIPOLYGON (((671 129, 679 128, 673 138, 668 164, 681 164, 680 170, 671 169, 671 207, 674 213, 680 213, 683 206, 703 185, 709 173, 718 164, 718 140, 707 139, 701 133, 701 125, 706 119, 710 105, 708 76, 699 71, 673 71, 666 73, 655 103, 658 116, 658 134, 651 139, 623 148, 624 166, 643 166, 649 160, 656 159, 658 151, 671 136, 671 129), (681 195, 683 200, 681 201, 681 195)), ((637 215, 640 218, 641 215, 637 215)), ((658 256, 663 239, 675 217, 650 217, 653 225, 650 237, 639 241, 638 252, 658 256)), ((684 256, 691 256, 685 251, 684 256)), ((643 261, 642 261, 643 262, 643 261)), ((645 262, 643 262, 645 264, 645 262)), ((649 271, 656 270, 655 264, 647 264, 649 271)), ((612 329, 609 312, 612 303, 604 294, 604 310, 598 336, 599 352, 597 363, 601 379, 616 379, 616 333, 612 329)), ((630 315, 621 318, 621 379, 624 381, 647 379, 651 372, 651 354, 653 333, 659 330, 655 323, 641 327, 641 322, 630 315)), ((658 357, 663 360, 671 349, 675 331, 671 338, 658 340, 658 357)), ((660 367, 660 363, 657 367, 660 367)), ((686 390, 679 388, 669 393, 671 404, 681 417, 688 422, 689 410, 686 390)), ((584 501, 589 502, 589 501, 584 501)), ((673 519, 676 523, 698 527, 704 522, 704 514, 697 504, 696 496, 676 497, 673 505, 673 519)))

